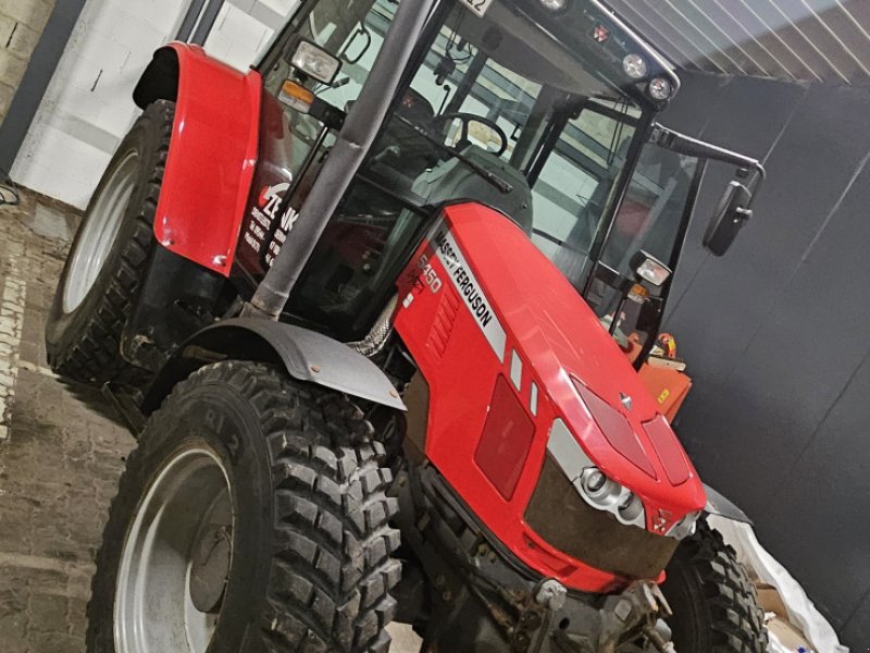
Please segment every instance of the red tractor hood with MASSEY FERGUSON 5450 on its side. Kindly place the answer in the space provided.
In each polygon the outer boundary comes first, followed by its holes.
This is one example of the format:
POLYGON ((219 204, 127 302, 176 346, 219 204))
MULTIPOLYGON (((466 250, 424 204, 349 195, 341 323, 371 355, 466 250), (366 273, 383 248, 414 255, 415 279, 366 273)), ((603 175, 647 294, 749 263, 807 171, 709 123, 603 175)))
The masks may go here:
MULTIPOLYGON (((697 472, 634 368, 574 287, 509 219, 475 204, 448 207, 402 280, 413 283, 401 291, 396 329, 430 386, 426 456, 525 564, 589 592, 625 582, 552 549, 524 521, 556 418, 601 470, 641 496, 647 530, 660 532, 662 520, 670 528, 704 507, 697 472), (534 424, 527 446, 524 438, 521 446, 515 440, 501 446, 500 435, 484 436, 490 402, 505 402, 504 380, 534 424), (624 415, 633 434, 606 436, 575 381, 624 415), (631 396, 631 409, 620 393, 631 396), (631 451, 620 452, 630 436, 631 451), (490 478, 499 446, 508 455, 496 484, 490 478)), ((521 427, 499 433, 508 428, 521 427)))

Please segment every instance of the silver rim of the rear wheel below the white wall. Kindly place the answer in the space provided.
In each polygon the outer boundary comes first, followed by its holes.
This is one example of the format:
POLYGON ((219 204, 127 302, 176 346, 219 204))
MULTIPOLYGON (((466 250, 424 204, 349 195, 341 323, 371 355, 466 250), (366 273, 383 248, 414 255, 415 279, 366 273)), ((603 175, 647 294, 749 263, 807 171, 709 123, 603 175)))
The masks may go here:
POLYGON ((130 150, 112 172, 88 212, 75 242, 63 289, 63 310, 71 312, 85 300, 100 274, 121 230, 136 187, 139 155, 130 150))

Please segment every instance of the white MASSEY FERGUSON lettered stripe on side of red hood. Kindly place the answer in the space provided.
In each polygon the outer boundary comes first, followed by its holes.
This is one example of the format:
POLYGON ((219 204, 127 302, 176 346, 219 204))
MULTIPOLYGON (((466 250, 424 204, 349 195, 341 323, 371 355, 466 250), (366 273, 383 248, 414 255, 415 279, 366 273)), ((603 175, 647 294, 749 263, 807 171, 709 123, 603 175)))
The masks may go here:
POLYGON ((493 310, 492 304, 484 295, 481 284, 474 278, 474 273, 462 256, 453 236, 447 230, 438 230, 432 239, 438 259, 447 270, 447 275, 453 286, 462 296, 469 310, 475 318, 475 322, 483 331, 484 336, 489 342, 493 350, 500 361, 505 361, 505 343, 507 335, 501 322, 493 310))

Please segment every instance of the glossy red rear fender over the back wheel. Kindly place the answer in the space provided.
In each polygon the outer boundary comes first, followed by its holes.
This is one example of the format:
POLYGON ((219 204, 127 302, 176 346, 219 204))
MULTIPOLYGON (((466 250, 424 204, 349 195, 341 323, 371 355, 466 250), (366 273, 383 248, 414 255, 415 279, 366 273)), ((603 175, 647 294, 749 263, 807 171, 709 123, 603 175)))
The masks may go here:
POLYGON ((178 97, 154 235, 228 276, 257 165, 262 78, 198 46, 166 47, 178 58, 178 97))

